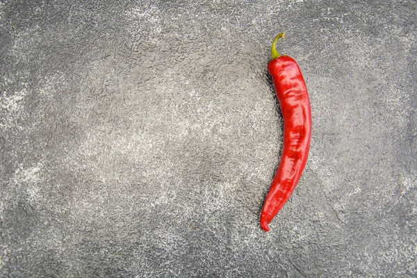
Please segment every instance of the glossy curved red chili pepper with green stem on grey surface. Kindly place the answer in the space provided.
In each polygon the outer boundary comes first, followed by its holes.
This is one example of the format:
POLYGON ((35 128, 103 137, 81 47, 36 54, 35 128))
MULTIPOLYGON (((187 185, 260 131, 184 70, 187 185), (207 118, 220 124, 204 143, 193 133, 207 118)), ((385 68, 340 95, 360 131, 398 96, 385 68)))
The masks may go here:
POLYGON ((268 72, 272 76, 284 119, 284 142, 281 161, 262 208, 261 228, 264 231, 269 231, 269 222, 300 181, 311 138, 311 108, 307 88, 295 60, 278 54, 276 44, 279 38, 285 38, 284 33, 279 33, 272 42, 272 60, 268 63, 268 72))

